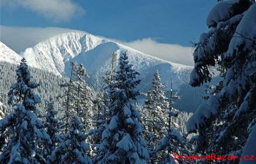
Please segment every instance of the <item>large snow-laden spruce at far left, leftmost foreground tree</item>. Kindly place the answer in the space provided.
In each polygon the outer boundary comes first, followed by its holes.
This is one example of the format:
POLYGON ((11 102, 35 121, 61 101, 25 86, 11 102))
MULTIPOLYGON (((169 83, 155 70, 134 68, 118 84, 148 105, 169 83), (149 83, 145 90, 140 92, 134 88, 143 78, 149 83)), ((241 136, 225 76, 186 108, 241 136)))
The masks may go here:
POLYGON ((13 112, 0 120, 0 135, 9 132, 9 142, 0 155, 0 163, 44 163, 40 154, 43 143, 51 143, 43 123, 37 118, 36 104, 41 99, 33 92, 38 83, 31 81, 26 60, 22 58, 16 69, 16 83, 9 92, 13 112))

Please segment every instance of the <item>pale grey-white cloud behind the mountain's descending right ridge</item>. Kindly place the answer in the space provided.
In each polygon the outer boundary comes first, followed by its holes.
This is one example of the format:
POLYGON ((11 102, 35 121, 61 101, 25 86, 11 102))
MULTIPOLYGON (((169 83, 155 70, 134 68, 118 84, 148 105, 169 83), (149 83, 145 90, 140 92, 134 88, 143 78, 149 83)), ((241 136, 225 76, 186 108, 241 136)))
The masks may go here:
POLYGON ((184 47, 179 44, 159 43, 151 38, 139 39, 123 44, 174 63, 181 63, 190 66, 193 66, 194 64, 192 47, 184 47))

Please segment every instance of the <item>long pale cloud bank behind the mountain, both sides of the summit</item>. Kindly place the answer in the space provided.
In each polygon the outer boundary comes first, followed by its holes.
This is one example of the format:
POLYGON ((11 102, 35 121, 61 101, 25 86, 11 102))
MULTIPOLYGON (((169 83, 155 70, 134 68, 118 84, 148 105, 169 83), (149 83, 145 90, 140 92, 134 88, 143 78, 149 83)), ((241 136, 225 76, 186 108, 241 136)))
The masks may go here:
MULTIPOLYGON (((28 47, 33 47, 52 36, 66 32, 75 32, 78 30, 63 29, 58 27, 8 27, 0 26, 0 40, 9 46, 15 52, 20 53, 28 47)), ((102 36, 99 36, 104 38, 102 36)), ((106 38, 108 39, 108 38, 106 38)), ((110 39, 118 43, 125 44, 140 52, 156 56, 174 63, 193 66, 192 48, 184 47, 179 44, 159 43, 151 38, 139 39, 136 41, 125 42, 116 39, 110 39)))

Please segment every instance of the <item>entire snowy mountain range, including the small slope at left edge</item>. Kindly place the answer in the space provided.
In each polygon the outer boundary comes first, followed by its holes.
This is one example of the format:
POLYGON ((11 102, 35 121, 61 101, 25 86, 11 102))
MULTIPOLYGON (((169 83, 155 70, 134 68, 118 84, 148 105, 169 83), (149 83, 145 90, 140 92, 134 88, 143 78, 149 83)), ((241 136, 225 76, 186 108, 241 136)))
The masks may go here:
MULTIPOLYGON (((179 89, 182 101, 176 102, 176 108, 193 112, 203 101, 204 86, 193 88, 188 84, 192 67, 161 60, 86 32, 63 33, 54 36, 36 44, 35 47, 26 49, 21 56, 26 58, 29 66, 61 76, 69 74, 70 61, 83 63, 91 77, 88 83, 94 89, 99 89, 103 84, 102 76, 109 70, 112 53, 116 52, 120 55, 125 51, 134 69, 140 72, 142 82, 139 89, 141 92, 146 92, 151 87, 153 75, 156 70, 159 70, 161 82, 167 84, 166 90, 170 89, 171 77, 174 89, 179 89)), ((19 64, 21 56, 3 43, 1 43, 0 52, 0 61, 19 64)))

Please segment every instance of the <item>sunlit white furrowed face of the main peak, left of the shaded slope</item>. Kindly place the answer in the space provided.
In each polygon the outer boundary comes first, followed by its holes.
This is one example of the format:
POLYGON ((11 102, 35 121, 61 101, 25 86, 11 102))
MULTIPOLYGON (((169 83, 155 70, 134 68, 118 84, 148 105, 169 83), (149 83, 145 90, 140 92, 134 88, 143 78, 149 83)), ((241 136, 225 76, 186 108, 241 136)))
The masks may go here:
POLYGON ((81 32, 64 33, 36 44, 21 53, 30 66, 54 72, 57 75, 64 74, 65 64, 69 63, 80 52, 86 52, 104 42, 90 34, 81 32))

